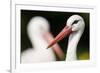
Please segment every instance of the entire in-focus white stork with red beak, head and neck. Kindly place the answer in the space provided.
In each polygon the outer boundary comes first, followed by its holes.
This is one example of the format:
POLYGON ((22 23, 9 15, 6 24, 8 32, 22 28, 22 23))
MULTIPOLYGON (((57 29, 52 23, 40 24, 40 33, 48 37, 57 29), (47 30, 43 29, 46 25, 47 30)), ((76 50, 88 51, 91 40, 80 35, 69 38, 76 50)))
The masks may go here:
POLYGON ((72 15, 67 20, 66 26, 64 29, 55 37, 55 39, 48 45, 47 48, 50 48, 55 43, 62 40, 64 37, 69 36, 68 48, 66 54, 66 60, 73 61, 77 60, 77 45, 83 34, 85 28, 85 22, 83 18, 79 15, 72 15))

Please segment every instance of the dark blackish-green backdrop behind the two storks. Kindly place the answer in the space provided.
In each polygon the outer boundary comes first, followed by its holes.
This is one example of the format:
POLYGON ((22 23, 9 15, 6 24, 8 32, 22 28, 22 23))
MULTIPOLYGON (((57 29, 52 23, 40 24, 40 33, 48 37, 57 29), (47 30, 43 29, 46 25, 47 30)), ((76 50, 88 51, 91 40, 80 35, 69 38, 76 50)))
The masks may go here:
MULTIPOLYGON (((43 16, 50 22, 50 31, 54 37, 64 28, 67 19, 73 15, 78 14, 83 17, 85 21, 85 30, 81 37, 81 40, 77 46, 77 57, 79 60, 88 60, 90 49, 89 49, 89 13, 79 13, 79 12, 56 12, 56 11, 33 11, 33 10, 21 10, 21 52, 27 50, 27 48, 32 48, 31 42, 29 41, 27 35, 27 24, 30 19, 34 16, 43 16)), ((58 43, 64 53, 67 52, 68 38, 63 39, 58 43)))

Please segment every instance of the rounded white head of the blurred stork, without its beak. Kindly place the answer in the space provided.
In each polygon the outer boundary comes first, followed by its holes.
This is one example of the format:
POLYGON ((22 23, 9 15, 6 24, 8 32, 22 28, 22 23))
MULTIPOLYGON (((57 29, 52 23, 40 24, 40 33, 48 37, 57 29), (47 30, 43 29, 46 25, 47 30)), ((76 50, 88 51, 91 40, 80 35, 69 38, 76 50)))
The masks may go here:
POLYGON ((49 31, 49 22, 41 16, 33 17, 27 26, 28 35, 40 36, 43 32, 49 31))

